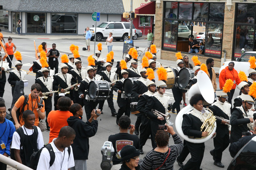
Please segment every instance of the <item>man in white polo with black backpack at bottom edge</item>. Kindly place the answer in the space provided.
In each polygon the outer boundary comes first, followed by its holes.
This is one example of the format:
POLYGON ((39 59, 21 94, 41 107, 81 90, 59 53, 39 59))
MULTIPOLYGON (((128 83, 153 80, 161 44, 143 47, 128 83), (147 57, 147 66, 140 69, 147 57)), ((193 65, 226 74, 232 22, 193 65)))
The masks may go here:
POLYGON ((50 143, 55 154, 55 159, 50 166, 50 153, 47 148, 44 148, 40 154, 38 166, 36 170, 69 170, 75 166, 72 147, 73 140, 76 137, 76 132, 69 126, 64 126, 60 129, 57 138, 54 138, 50 143), (69 151, 70 150, 70 151, 69 151))

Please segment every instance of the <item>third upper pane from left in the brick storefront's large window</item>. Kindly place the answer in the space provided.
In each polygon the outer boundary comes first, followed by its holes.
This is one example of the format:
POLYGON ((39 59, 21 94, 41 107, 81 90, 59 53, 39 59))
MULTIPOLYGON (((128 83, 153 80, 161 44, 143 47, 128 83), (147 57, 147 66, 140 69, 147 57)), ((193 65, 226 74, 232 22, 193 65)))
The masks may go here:
POLYGON ((194 3, 194 20, 207 21, 208 3, 194 3))

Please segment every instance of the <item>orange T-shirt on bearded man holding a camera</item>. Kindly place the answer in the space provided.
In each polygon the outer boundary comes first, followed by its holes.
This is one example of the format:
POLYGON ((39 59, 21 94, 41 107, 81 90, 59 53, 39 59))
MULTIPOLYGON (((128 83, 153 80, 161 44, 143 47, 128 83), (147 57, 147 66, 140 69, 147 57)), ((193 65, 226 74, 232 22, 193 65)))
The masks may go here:
MULTIPOLYGON (((33 99, 33 101, 32 101, 32 102, 33 102, 33 106, 32 106, 31 99, 32 99, 32 98, 31 98, 31 93, 30 93, 30 94, 28 94, 28 104, 25 105, 24 111, 25 111, 25 110, 33 110, 33 112, 34 112, 34 114, 35 114, 35 116, 36 116, 35 126, 38 126, 39 120, 38 120, 38 113, 37 113, 36 109, 37 109, 37 107, 38 107, 37 103, 39 103, 38 100, 40 100, 40 99, 39 99, 39 98, 38 98, 38 99, 33 99), (33 108, 34 108, 34 109, 33 109, 33 108)), ((14 105, 14 106, 20 108, 20 111, 22 110, 24 100, 25 100, 25 97, 22 95, 22 96, 20 96, 20 98, 16 101, 16 103, 15 103, 15 105, 14 105)), ((43 105, 44 105, 44 100, 43 100, 43 105)), ((41 109, 41 112, 42 112, 42 113, 45 112, 44 107, 43 107, 43 109, 41 109)), ((20 126, 24 125, 24 122, 23 122, 23 119, 22 119, 22 115, 20 115, 19 119, 20 119, 20 126)))

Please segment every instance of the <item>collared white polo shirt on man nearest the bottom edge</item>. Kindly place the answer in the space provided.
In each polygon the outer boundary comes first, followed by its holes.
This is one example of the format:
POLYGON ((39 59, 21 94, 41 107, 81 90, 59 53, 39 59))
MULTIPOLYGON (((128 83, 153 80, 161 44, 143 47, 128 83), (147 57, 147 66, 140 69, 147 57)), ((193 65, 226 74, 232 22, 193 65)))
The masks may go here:
POLYGON ((63 152, 60 152, 54 144, 55 139, 56 138, 54 138, 50 143, 52 145, 53 152, 55 153, 55 159, 52 166, 50 167, 49 164, 50 153, 46 148, 44 148, 41 152, 36 170, 67 170, 68 168, 75 166, 72 147, 70 146, 70 156, 68 158, 68 148, 65 148, 63 152))

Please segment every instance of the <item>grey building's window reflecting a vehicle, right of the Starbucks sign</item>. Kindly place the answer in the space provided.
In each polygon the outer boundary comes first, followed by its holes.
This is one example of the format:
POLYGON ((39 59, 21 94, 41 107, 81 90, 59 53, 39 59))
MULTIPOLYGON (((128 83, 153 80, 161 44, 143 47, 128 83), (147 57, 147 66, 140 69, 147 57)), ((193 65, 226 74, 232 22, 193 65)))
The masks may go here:
POLYGON ((52 33, 76 33, 77 14, 52 14, 52 33))

